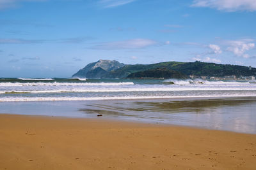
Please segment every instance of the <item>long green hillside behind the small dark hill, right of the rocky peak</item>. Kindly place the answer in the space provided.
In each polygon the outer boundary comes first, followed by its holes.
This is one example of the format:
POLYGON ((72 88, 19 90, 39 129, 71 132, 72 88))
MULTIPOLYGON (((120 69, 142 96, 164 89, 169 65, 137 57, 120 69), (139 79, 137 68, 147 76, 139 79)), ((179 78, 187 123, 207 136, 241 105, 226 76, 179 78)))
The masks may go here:
POLYGON ((148 69, 163 68, 179 71, 180 73, 195 76, 256 76, 256 68, 230 64, 214 64, 208 62, 160 62, 157 64, 125 65, 120 69, 106 74, 105 78, 126 78, 131 73, 148 69))

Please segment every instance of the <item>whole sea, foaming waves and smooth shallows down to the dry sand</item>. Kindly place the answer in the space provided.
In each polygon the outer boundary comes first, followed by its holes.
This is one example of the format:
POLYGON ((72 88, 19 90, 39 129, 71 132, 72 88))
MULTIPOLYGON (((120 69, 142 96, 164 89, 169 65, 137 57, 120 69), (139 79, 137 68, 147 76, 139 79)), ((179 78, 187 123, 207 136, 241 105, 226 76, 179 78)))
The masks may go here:
POLYGON ((256 81, 0 78, 0 113, 256 134, 256 81))

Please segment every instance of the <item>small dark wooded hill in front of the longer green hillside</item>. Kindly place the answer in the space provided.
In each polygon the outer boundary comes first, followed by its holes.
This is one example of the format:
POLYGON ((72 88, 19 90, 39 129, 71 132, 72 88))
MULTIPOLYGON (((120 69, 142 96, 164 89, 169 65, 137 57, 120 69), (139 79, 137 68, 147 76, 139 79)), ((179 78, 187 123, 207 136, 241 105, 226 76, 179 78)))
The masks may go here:
POLYGON ((173 71, 166 67, 157 69, 148 69, 146 71, 139 71, 131 73, 127 78, 175 78, 175 79, 187 79, 188 76, 180 73, 179 71, 173 71))

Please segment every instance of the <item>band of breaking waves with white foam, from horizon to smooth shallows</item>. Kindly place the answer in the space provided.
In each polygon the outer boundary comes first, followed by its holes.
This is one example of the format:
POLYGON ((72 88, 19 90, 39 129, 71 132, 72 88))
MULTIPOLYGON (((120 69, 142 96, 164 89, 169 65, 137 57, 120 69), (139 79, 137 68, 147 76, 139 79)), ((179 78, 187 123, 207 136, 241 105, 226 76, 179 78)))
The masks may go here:
POLYGON ((248 96, 254 81, 0 78, 0 102, 248 96))

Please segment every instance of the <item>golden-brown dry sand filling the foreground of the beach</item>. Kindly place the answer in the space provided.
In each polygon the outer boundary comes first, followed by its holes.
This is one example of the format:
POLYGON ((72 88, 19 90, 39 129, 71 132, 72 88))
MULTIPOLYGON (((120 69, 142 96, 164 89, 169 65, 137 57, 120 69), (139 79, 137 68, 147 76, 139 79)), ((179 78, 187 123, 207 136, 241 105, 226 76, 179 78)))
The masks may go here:
POLYGON ((256 135, 0 115, 0 169, 256 169, 256 135))

